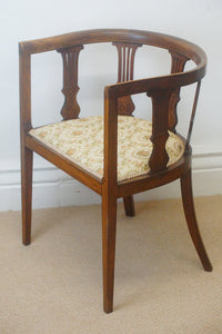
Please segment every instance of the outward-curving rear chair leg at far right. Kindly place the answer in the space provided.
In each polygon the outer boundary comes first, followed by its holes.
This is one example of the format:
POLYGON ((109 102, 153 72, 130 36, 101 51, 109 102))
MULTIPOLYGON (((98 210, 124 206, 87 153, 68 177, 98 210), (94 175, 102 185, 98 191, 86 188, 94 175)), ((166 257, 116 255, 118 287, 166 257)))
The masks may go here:
POLYGON ((205 247, 203 245, 201 234, 198 227, 194 203, 193 203, 193 193, 192 193, 192 179, 191 179, 191 169, 181 177, 181 193, 183 199, 183 209, 188 223, 188 228, 190 230, 191 238, 200 257, 200 261, 203 265, 203 268, 206 272, 211 272, 212 265, 208 257, 205 247))

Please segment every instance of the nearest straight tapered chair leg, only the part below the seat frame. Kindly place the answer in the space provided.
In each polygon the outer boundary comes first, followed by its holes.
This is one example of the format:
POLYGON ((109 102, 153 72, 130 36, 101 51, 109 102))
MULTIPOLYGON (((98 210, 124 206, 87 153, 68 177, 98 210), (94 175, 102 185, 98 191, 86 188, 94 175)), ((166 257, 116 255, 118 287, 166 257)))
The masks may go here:
POLYGON ((102 198, 103 310, 113 311, 117 198, 102 198))

